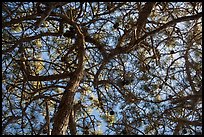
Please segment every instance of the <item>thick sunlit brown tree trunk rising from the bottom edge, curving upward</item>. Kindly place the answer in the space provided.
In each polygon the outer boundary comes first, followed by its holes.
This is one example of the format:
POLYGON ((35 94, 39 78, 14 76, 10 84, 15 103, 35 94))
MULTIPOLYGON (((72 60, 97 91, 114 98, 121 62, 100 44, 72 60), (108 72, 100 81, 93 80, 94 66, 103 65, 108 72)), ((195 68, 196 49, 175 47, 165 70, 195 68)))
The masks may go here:
POLYGON ((56 116, 54 119, 52 135, 66 134, 66 130, 69 123, 69 116, 73 108, 74 95, 77 87, 79 86, 81 79, 83 78, 85 38, 84 38, 84 35, 82 34, 81 29, 77 25, 75 24, 73 25, 76 27, 76 31, 77 31, 77 40, 75 45, 78 47, 77 58, 79 63, 77 64, 77 69, 73 73, 73 76, 71 76, 70 81, 66 87, 66 90, 62 96, 62 100, 60 102, 58 112, 56 113, 56 116))

